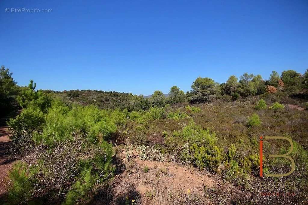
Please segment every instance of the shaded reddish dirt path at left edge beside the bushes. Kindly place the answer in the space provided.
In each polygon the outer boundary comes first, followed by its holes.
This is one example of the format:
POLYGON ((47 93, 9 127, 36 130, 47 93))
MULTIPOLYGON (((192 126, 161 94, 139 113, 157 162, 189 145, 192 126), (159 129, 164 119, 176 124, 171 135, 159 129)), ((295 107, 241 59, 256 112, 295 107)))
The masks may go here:
POLYGON ((8 183, 6 181, 8 170, 12 167, 14 160, 10 159, 9 150, 11 141, 8 138, 8 127, 0 127, 0 195, 6 192, 8 183))

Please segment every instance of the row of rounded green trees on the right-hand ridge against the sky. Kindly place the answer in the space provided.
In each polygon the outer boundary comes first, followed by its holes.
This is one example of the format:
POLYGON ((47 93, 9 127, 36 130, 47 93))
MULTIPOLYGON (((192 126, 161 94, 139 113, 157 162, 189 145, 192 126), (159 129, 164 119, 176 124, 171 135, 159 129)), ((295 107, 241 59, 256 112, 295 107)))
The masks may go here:
POLYGON ((186 94, 177 86, 171 87, 169 97, 156 90, 149 99, 149 104, 162 106, 165 103, 174 104, 180 102, 202 103, 214 98, 231 96, 233 100, 239 97, 251 98, 264 93, 276 93, 279 91, 288 94, 297 93, 308 88, 308 69, 305 74, 294 70, 285 70, 279 75, 276 71, 270 74, 269 80, 264 80, 261 75, 244 73, 238 79, 231 75, 224 83, 215 82, 212 78, 198 77, 191 86, 192 90, 186 94))

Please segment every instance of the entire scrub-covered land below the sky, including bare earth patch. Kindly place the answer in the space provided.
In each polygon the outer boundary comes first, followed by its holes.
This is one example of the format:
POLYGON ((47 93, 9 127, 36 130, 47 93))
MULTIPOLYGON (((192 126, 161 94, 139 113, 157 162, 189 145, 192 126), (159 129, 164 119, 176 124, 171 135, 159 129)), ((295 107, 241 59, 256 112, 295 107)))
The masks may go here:
MULTIPOLYGON (((245 73, 219 84, 197 78, 169 96, 16 85, 2 68, 2 105, 21 112, 7 124, 11 153, 7 204, 293 204, 308 203, 308 70, 245 73), (3 89, 2 89, 3 90, 3 89), (15 96, 15 97, 14 97, 15 96), (259 137, 292 139, 295 171, 259 176, 259 137), (176 179, 176 180, 173 180, 176 179), (260 183, 295 186, 260 189, 260 183), (287 196, 264 193, 290 193, 287 196)), ((39 86, 39 85, 38 85, 39 86)), ((264 141, 263 172, 290 171, 269 158, 290 145, 264 141)))

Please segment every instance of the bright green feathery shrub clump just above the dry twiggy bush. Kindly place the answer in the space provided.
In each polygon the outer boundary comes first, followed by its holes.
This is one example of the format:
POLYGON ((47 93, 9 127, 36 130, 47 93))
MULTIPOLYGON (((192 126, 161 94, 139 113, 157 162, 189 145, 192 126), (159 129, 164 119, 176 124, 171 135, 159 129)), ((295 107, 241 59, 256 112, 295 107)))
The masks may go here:
POLYGON ((101 111, 94 105, 74 106, 72 109, 52 106, 45 118, 41 138, 45 143, 53 144, 71 139, 73 133, 81 132, 89 143, 109 139, 117 130, 117 120, 108 115, 107 111, 101 111))

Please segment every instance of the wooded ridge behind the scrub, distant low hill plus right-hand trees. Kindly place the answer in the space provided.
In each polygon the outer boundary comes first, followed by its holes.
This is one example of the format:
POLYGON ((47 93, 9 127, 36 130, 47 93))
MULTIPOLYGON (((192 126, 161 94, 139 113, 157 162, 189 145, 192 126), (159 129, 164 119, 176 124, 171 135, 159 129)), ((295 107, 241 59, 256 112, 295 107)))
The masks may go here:
POLYGON ((306 102, 308 89, 308 71, 305 74, 294 70, 283 71, 279 75, 273 71, 270 79, 261 75, 244 73, 239 78, 231 75, 225 83, 217 83, 212 78, 197 78, 186 94, 179 87, 170 88, 169 94, 156 90, 149 96, 137 96, 132 93, 120 93, 101 90, 45 90, 63 99, 67 104, 97 105, 101 109, 127 109, 128 111, 147 110, 150 106, 164 107, 176 103, 205 103, 224 100, 226 102, 238 99, 248 99, 255 96, 275 94, 277 100, 287 102, 306 102), (290 97, 290 98, 289 98, 290 97))

